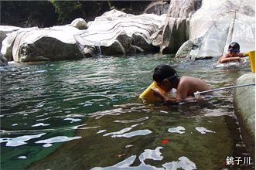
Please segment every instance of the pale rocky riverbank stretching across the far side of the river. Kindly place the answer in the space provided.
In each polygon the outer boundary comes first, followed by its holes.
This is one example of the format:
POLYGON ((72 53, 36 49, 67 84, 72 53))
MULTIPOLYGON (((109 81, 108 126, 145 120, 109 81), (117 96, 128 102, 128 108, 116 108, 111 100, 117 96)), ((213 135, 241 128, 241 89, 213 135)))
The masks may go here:
POLYGON ((248 52, 255 44, 255 4, 253 0, 173 0, 155 4, 155 10, 150 6, 143 15, 105 12, 88 22, 86 29, 80 28, 68 25, 6 30, 6 26, 0 26, 1 53, 15 62, 142 52, 205 59, 220 57, 234 41, 240 43, 241 52, 248 52))

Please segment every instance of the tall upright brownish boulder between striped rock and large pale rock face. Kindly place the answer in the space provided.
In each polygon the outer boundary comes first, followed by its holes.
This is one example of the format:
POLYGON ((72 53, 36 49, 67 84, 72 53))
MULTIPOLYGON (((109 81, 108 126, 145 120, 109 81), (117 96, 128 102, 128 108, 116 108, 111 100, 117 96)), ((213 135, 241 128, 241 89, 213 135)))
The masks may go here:
POLYGON ((201 1, 172 0, 163 29, 161 53, 176 53, 189 39, 189 19, 200 8, 201 1))

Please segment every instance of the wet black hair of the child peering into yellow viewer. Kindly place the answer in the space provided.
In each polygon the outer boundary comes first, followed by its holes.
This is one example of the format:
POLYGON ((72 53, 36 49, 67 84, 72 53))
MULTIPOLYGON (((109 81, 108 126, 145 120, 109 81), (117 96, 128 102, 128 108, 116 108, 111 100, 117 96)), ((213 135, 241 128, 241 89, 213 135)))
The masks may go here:
POLYGON ((172 66, 160 64, 159 66, 155 67, 153 80, 155 80, 156 83, 162 83, 162 80, 165 79, 173 83, 174 80, 179 80, 179 76, 176 73, 176 70, 172 68, 172 66))

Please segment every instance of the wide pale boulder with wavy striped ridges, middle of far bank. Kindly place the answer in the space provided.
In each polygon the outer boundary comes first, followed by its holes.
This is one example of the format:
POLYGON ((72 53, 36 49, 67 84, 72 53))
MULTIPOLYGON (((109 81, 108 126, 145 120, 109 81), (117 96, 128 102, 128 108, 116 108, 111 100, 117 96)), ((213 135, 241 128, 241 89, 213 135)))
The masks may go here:
POLYGON ((150 52, 155 50, 151 42, 154 39, 150 38, 162 28, 165 19, 166 15, 111 10, 88 22, 87 29, 80 31, 76 39, 81 51, 94 47, 98 49, 95 53, 104 56, 150 52))

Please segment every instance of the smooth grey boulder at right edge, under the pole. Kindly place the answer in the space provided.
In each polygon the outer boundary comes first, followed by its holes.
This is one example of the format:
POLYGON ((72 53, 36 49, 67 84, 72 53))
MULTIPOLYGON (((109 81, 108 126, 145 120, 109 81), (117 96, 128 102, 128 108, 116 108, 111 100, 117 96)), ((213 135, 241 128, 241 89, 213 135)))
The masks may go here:
MULTIPOLYGON (((244 74, 236 85, 255 83, 255 73, 244 74)), ((241 126, 241 134, 250 155, 255 158, 255 86, 234 89, 234 112, 241 126)), ((255 162, 254 162, 255 163, 255 162)))

